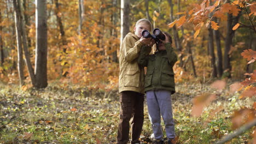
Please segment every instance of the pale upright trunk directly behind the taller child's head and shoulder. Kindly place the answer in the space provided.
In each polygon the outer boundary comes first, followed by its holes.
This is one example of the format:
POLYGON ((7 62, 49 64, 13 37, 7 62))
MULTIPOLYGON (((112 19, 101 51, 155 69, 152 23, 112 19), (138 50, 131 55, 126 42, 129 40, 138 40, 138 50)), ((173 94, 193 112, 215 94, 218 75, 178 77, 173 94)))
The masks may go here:
POLYGON ((123 39, 127 33, 130 32, 130 0, 121 0, 121 37, 120 37, 120 44, 123 43, 123 39))

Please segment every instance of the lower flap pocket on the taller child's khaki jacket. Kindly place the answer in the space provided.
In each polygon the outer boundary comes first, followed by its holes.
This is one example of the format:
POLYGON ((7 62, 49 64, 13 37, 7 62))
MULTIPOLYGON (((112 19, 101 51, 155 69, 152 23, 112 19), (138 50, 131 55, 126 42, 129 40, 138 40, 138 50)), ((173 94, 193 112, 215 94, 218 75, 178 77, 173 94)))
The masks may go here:
POLYGON ((124 74, 124 86, 125 87, 138 87, 139 86, 139 70, 126 71, 124 74))

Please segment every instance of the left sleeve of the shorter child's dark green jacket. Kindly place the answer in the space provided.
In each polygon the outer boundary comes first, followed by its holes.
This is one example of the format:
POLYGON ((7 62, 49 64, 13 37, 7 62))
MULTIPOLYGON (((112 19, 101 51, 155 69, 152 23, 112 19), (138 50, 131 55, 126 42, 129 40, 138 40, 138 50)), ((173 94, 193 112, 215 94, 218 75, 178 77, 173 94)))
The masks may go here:
POLYGON ((139 56, 138 56, 139 65, 142 65, 143 67, 147 67, 150 51, 151 51, 151 46, 142 46, 141 52, 139 53, 139 56))

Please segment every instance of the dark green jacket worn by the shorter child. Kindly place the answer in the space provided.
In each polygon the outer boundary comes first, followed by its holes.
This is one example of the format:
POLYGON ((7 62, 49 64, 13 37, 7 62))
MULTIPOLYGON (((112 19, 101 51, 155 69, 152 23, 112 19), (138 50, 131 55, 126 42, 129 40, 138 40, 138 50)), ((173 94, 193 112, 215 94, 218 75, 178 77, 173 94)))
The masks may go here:
POLYGON ((157 51, 149 55, 151 47, 142 46, 138 57, 138 64, 147 67, 144 79, 144 91, 165 89, 175 92, 173 65, 177 62, 177 55, 171 43, 165 44, 166 50, 157 51))

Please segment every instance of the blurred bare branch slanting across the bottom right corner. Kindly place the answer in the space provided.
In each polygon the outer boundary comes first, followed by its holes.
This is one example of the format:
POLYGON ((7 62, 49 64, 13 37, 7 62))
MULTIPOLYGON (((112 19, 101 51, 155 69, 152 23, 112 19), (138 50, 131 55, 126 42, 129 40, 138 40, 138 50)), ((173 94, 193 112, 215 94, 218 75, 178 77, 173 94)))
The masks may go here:
POLYGON ((248 129, 254 127, 255 125, 256 125, 256 118, 254 118, 254 120, 252 122, 244 125, 240 129, 236 130, 234 133, 224 136, 223 139, 217 141, 216 144, 222 144, 222 143, 225 143, 227 141, 230 141, 234 137, 245 133, 245 131, 247 131, 248 129))

